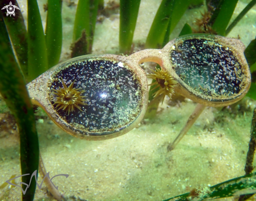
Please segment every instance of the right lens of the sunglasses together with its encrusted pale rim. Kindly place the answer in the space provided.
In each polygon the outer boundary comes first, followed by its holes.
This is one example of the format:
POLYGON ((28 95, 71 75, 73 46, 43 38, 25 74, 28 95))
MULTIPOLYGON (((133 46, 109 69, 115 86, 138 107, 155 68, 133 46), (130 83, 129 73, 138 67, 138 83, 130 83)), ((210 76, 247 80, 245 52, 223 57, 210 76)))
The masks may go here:
POLYGON ((168 45, 166 68, 181 86, 177 91, 187 98, 218 107, 240 100, 249 90, 251 76, 241 41, 192 34, 168 45))

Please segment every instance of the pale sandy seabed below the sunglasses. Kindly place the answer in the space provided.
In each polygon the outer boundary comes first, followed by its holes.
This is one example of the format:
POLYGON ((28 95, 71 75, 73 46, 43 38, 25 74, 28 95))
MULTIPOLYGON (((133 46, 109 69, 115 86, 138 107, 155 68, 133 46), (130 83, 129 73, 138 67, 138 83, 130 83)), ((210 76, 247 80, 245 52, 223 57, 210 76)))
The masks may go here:
MULTIPOLYGON (((254 101, 247 101, 246 112, 206 108, 171 152, 168 144, 196 103, 186 100, 169 106, 166 101, 154 120, 144 120, 131 132, 105 141, 74 138, 48 118, 38 120, 47 171, 51 177, 69 174, 53 180, 60 193, 68 200, 163 200, 244 174, 254 101)), ((0 156, 1 181, 20 175, 17 136, 1 138, 0 156)), ((20 200, 20 193, 18 187, 6 187, 0 198, 20 200)), ((44 184, 37 188, 35 200, 53 200, 44 184)))

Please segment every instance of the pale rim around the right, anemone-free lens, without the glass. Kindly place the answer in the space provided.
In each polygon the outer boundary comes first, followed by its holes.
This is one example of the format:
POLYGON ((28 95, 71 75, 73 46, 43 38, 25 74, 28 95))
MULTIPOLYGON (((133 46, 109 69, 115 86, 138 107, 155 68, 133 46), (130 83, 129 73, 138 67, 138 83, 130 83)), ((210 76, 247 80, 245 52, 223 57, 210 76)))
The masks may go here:
POLYGON ((237 102, 242 97, 246 95, 248 92, 250 85, 251 85, 251 74, 250 69, 247 64, 246 58, 244 57, 243 51, 245 49, 245 46, 240 40, 237 39, 230 39, 226 37, 216 36, 212 34, 188 34, 184 35, 182 37, 179 37, 177 39, 173 39, 168 44, 166 44, 163 48, 164 51, 168 52, 168 58, 166 58, 167 55, 165 55, 165 58, 163 60, 163 66, 165 69, 168 70, 168 72, 176 79, 179 84, 177 84, 175 91, 182 94, 182 96, 189 98, 195 102, 205 104, 207 106, 211 107, 221 107, 230 105, 232 103, 237 102), (175 72, 175 66, 170 61, 170 54, 173 50, 173 46, 180 44, 181 42, 188 40, 188 39, 206 39, 206 40, 213 40, 217 42, 220 45, 225 45, 232 49, 232 52, 236 57, 238 58, 239 63, 242 66, 242 72, 245 76, 245 84, 243 88, 240 90, 239 93, 234 94, 230 97, 212 97, 208 96, 206 94, 202 94, 194 90, 191 86, 188 86, 175 72), (166 62, 167 61, 167 62, 166 62))

